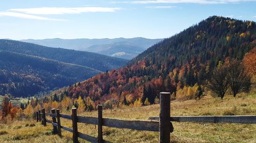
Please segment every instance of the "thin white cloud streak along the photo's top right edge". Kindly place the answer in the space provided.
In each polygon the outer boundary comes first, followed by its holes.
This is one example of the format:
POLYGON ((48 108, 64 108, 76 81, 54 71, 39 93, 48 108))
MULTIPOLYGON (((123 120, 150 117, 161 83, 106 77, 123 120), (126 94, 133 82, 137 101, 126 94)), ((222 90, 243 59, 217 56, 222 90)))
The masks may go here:
POLYGON ((256 0, 146 0, 146 1, 116 1, 114 3, 126 4, 178 4, 178 3, 194 3, 194 4, 237 4, 242 2, 256 2, 256 0))

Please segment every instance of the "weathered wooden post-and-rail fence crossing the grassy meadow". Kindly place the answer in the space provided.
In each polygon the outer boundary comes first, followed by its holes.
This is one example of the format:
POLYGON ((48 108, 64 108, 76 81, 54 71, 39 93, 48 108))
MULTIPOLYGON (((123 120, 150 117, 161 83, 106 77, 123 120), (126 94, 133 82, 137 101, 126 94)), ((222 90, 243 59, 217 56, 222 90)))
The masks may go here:
POLYGON ((159 142, 169 143, 170 133, 174 131, 173 122, 198 122, 198 123, 239 123, 256 124, 256 116, 193 116, 193 117, 170 117, 170 93, 160 93, 160 115, 151 117, 155 121, 125 121, 117 119, 103 118, 102 105, 98 105, 98 118, 77 116, 77 109, 72 108, 72 115, 60 114, 59 109, 51 109, 51 113, 46 113, 45 108, 33 113, 33 119, 46 126, 47 123, 53 125, 53 134, 61 136, 61 129, 73 133, 73 142, 78 142, 78 137, 89 142, 109 142, 102 137, 102 126, 113 128, 125 128, 144 131, 159 132, 159 142), (52 121, 46 116, 52 117, 52 121), (60 118, 72 120, 72 129, 61 126, 60 118), (77 123, 98 125, 98 137, 78 132, 77 123))

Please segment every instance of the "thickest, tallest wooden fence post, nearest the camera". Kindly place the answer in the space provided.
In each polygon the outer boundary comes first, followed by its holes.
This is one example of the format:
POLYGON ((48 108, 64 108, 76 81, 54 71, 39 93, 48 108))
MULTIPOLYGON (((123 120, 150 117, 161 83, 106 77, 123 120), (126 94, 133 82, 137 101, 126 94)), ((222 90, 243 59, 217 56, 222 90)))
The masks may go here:
POLYGON ((170 93, 160 93, 159 142, 170 142, 170 93))

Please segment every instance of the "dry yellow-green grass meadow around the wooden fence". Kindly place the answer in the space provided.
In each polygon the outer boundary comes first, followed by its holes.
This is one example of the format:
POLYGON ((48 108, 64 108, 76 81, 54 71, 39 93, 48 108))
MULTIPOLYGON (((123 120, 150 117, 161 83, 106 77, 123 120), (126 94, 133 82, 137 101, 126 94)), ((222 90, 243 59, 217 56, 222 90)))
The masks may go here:
MULTIPOLYGON (((103 118, 147 120, 159 115, 159 104, 143 107, 127 107, 103 110, 103 118)), ((207 115, 256 115, 256 94, 241 94, 201 100, 172 101, 172 116, 207 115)), ((97 117, 97 111, 84 112, 79 116, 97 117)), ((70 120, 61 124, 72 128, 70 120)), ((256 125, 252 124, 202 124, 173 122, 172 142, 256 142, 256 125)), ((78 123, 78 131, 97 136, 97 126, 78 123)), ((72 142, 72 134, 62 130, 62 137, 52 135, 52 125, 43 127, 32 120, 0 124, 0 142, 72 142), (26 125, 27 124, 27 125, 26 125), (35 126, 34 126, 34 125, 35 126)), ((158 142, 159 133, 103 127, 103 138, 111 142, 158 142)), ((86 142, 79 139, 80 142, 86 142)))

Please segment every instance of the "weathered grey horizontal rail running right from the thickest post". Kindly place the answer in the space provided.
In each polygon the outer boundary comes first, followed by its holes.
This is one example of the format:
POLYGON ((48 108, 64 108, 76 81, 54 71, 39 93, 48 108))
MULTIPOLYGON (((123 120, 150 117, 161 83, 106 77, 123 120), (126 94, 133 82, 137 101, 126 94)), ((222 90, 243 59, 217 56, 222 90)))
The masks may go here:
MULTIPOLYGON (((159 117, 151 117, 151 120, 159 120, 159 117)), ((256 124, 256 116, 173 116, 170 121, 174 122, 195 122, 195 123, 238 123, 256 124)))

